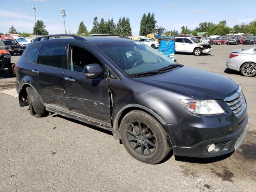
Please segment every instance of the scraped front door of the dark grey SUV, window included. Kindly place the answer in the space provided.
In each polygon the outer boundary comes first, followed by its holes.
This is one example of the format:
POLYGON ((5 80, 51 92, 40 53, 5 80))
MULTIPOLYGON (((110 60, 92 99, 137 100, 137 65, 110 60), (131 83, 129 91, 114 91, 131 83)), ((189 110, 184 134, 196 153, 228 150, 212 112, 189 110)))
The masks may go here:
POLYGON ((104 64, 80 44, 67 47, 68 66, 63 78, 70 114, 111 126, 108 79, 84 76, 85 65, 97 63, 104 70, 104 64))

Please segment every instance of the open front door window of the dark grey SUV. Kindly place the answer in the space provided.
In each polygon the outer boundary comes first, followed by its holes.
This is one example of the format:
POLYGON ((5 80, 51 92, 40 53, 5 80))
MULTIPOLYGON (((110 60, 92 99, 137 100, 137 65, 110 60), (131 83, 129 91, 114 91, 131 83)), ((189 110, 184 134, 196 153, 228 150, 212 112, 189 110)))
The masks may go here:
POLYGON ((89 51, 78 46, 69 46, 68 54, 68 70, 76 72, 84 72, 84 66, 88 64, 100 64, 102 63, 89 51))

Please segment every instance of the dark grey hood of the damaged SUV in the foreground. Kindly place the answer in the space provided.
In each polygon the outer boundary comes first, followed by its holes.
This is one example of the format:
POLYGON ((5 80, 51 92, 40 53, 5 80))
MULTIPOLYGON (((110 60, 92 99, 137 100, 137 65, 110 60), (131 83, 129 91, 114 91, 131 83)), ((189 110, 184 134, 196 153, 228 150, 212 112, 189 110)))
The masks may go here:
POLYGON ((153 76, 136 78, 156 88, 181 92, 197 100, 224 100, 238 88, 238 84, 225 76, 206 70, 183 66, 153 76))

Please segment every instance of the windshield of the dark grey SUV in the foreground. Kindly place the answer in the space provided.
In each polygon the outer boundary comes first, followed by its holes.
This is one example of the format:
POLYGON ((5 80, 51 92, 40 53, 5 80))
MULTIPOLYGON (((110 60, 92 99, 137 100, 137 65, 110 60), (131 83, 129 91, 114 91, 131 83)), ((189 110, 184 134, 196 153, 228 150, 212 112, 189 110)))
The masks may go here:
POLYGON ((164 54, 140 42, 96 45, 122 71, 129 76, 144 72, 157 72, 168 65, 176 65, 164 54))

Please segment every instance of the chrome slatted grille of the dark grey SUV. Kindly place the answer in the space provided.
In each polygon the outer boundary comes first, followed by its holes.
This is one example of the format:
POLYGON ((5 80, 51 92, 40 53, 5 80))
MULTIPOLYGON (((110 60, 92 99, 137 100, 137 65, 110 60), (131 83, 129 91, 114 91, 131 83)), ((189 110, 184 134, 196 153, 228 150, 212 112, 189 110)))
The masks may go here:
POLYGON ((239 117, 246 108, 244 94, 240 87, 233 94, 226 96, 225 101, 237 117, 239 117))

